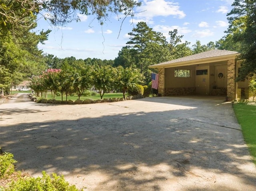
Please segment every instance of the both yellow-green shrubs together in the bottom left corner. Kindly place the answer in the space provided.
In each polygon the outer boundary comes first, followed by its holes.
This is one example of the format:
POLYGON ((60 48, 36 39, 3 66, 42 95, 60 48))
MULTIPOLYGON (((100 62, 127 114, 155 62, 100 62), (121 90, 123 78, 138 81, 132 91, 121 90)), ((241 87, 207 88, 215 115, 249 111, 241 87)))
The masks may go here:
MULTIPOLYGON (((69 185, 65 181, 64 176, 58 176, 52 173, 52 177, 42 171, 42 177, 22 177, 21 173, 11 176, 14 173, 14 165, 16 161, 10 153, 0 155, 0 180, 13 178, 13 180, 5 185, 0 186, 0 190, 5 191, 79 191, 75 185, 69 185), (15 180, 14 180, 15 177, 15 180)), ((81 189, 80 191, 82 191, 81 189)))

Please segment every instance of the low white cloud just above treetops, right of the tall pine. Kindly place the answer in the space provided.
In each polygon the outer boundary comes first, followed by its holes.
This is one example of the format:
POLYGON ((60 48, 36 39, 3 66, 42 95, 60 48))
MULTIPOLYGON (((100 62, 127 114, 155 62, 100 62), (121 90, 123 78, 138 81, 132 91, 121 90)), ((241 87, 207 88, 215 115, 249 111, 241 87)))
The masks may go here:
POLYGON ((187 27, 180 27, 180 26, 156 25, 153 27, 154 31, 163 33, 163 35, 167 39, 170 38, 169 31, 173 31, 174 29, 178 30, 178 35, 183 35, 191 32, 191 30, 189 30, 187 27))

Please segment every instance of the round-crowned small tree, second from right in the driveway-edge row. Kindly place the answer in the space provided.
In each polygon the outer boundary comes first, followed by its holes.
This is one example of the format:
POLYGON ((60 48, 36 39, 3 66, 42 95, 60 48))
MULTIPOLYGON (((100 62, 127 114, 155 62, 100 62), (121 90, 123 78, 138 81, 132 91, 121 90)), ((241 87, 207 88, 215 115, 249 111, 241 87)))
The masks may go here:
POLYGON ((99 91, 101 99, 105 93, 115 88, 115 79, 117 79, 116 69, 110 65, 101 67, 94 65, 92 75, 93 84, 95 89, 99 91))

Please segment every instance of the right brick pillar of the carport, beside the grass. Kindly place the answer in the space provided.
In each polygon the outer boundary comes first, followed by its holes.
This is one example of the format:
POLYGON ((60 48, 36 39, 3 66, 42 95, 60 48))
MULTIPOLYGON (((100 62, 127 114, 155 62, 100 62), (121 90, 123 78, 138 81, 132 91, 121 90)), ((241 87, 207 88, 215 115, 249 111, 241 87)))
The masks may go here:
POLYGON ((236 64, 235 60, 228 60, 228 87, 227 87, 227 97, 231 100, 236 98, 236 64))

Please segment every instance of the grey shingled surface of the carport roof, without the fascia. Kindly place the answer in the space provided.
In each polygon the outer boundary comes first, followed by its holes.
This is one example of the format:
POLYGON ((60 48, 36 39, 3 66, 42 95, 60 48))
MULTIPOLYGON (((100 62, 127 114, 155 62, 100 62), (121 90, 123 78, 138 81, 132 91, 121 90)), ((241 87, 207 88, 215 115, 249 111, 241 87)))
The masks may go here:
POLYGON ((178 58, 178 59, 175 59, 175 60, 170 60, 170 61, 167 61, 167 62, 155 64, 155 65, 152 65, 151 67, 159 66, 159 65, 166 65, 166 64, 171 64, 171 63, 198 60, 198 59, 214 58, 214 57, 225 56, 225 55, 233 55, 233 54, 235 55, 237 53, 238 52, 235 52, 235 51, 214 49, 214 50, 210 50, 210 51, 206 51, 206 52, 202 52, 202 53, 198 53, 198 54, 178 58))

